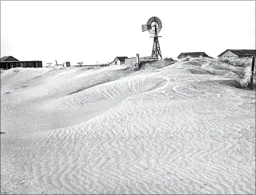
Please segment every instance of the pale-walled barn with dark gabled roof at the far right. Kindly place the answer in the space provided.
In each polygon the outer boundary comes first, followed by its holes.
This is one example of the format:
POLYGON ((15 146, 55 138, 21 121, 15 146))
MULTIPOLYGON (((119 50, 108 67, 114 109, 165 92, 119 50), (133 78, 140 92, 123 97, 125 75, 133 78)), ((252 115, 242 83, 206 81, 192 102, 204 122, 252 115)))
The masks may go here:
POLYGON ((244 57, 252 57, 255 54, 256 54, 255 49, 227 49, 217 57, 219 59, 244 58, 244 57))

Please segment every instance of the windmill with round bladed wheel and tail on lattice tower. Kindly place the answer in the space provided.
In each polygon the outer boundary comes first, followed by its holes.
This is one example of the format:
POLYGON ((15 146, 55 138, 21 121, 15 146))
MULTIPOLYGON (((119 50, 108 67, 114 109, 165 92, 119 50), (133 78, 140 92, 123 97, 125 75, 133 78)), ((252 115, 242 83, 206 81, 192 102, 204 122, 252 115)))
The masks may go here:
POLYGON ((160 33, 162 28, 161 20, 158 17, 153 16, 149 18, 147 24, 142 25, 141 28, 143 32, 148 30, 148 32, 153 35, 151 36, 153 37, 153 49, 152 49, 151 57, 157 57, 157 58, 161 57, 161 50, 159 46, 159 37, 161 36, 158 36, 158 33, 160 33))

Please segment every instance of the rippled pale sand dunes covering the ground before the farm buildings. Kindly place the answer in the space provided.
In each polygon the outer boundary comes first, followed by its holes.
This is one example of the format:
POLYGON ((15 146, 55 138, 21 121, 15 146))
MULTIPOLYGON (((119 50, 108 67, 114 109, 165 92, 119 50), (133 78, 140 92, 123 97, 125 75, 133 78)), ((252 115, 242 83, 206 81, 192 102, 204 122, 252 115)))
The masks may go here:
POLYGON ((255 194, 255 91, 216 59, 1 71, 1 194, 255 194))

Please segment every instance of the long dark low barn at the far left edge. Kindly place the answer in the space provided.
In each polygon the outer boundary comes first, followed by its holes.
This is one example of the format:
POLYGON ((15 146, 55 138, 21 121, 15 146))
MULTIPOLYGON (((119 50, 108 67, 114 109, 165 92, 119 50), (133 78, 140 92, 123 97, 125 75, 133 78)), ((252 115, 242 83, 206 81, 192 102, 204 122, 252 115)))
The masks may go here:
POLYGON ((0 65, 2 69, 10 69, 12 67, 43 67, 42 61, 19 61, 12 56, 1 57, 0 65))

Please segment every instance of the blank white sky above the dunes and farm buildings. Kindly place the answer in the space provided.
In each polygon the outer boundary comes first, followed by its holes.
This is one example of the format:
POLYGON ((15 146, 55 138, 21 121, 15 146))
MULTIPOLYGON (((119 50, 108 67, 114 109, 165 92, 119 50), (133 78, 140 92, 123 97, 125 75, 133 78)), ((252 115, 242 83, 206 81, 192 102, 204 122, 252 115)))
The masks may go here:
POLYGON ((1 57, 84 65, 151 56, 142 32, 159 17, 162 57, 255 49, 255 1, 1 1, 1 57))

